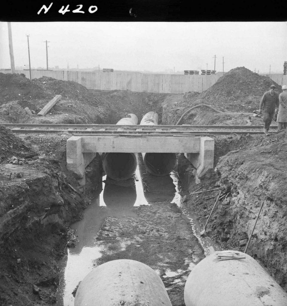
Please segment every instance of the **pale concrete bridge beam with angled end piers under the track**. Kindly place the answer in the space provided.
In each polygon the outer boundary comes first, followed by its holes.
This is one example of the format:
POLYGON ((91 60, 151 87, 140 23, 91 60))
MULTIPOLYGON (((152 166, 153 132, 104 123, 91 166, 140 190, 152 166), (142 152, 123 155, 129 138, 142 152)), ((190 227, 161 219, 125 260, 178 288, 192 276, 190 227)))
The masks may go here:
POLYGON ((190 136, 72 136, 67 140, 67 168, 84 185, 85 167, 96 152, 185 153, 201 177, 214 162, 214 140, 190 136))

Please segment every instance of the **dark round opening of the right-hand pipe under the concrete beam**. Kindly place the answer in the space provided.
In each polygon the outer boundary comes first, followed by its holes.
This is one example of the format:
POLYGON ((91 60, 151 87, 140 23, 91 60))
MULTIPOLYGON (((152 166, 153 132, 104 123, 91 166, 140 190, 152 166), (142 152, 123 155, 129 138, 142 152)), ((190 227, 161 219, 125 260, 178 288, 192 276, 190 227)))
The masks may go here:
POLYGON ((156 176, 170 174, 176 164, 175 153, 142 153, 147 171, 156 176))

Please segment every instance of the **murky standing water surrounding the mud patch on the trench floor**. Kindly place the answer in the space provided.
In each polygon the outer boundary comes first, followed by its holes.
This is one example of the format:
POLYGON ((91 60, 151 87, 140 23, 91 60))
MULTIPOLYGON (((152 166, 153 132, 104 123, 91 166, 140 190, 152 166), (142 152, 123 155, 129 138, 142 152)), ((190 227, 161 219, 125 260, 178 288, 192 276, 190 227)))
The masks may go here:
MULTIPOLYGON (((97 266, 96 260, 102 256, 103 248, 101 241, 95 238, 106 218, 138 218, 135 210, 140 205, 152 205, 155 202, 175 203, 182 211, 182 217, 192 227, 193 234, 198 238, 206 255, 218 250, 217 246, 209 237, 200 237, 201 226, 196 215, 190 211, 186 203, 181 203, 181 186, 176 172, 170 176, 155 177, 149 174, 145 167, 142 156, 137 154, 136 179, 132 184, 118 186, 109 183, 109 178, 102 178, 102 188, 95 192, 90 205, 84 211, 84 217, 70 227, 75 230, 77 241, 75 246, 66 249, 66 255, 59 264, 61 268, 60 285, 57 292, 56 306, 73 306, 73 291, 83 278, 97 266)), ((121 245, 125 249, 131 241, 124 241, 121 245)), ((195 267, 199 261, 196 254, 192 258, 185 259, 189 264, 189 270, 195 267)), ((160 274, 159 271, 157 271, 160 274)), ((184 282, 187 278, 185 271, 166 270, 164 278, 171 278, 171 283, 184 282)))

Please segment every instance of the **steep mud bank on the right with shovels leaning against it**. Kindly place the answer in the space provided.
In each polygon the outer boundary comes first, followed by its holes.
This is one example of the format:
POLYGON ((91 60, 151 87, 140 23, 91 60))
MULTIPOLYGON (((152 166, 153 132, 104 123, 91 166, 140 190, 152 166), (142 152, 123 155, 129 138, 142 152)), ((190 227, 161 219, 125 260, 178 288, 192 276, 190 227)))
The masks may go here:
MULTIPOLYGON (((287 290, 286 132, 272 136, 229 136, 215 140, 214 170, 195 185, 192 167, 179 160, 186 193, 220 187, 225 195, 211 215, 207 235, 224 249, 244 252, 262 201, 263 209, 246 253, 287 290), (225 146, 222 146, 223 144, 225 146), (225 148, 225 151, 224 149, 225 148), (234 193, 234 191, 237 191, 234 193)), ((204 226, 218 191, 191 195, 188 204, 204 226)))

